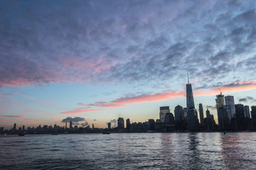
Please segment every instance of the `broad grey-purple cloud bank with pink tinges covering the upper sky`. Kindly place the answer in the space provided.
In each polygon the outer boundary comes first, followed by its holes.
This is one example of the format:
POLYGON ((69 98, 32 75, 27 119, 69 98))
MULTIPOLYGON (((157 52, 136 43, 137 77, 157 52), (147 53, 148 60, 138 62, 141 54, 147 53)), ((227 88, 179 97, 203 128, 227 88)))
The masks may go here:
POLYGON ((0 86, 254 79, 255 1, 0 4, 0 86))

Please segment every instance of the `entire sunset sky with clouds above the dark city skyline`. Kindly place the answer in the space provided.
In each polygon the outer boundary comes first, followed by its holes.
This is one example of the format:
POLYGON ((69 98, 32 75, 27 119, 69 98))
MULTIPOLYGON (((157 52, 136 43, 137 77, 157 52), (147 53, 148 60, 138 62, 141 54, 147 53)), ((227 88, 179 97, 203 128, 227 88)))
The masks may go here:
POLYGON ((0 126, 106 128, 220 91, 256 105, 256 1, 0 1, 0 126), (218 89, 220 88, 220 90, 218 89))

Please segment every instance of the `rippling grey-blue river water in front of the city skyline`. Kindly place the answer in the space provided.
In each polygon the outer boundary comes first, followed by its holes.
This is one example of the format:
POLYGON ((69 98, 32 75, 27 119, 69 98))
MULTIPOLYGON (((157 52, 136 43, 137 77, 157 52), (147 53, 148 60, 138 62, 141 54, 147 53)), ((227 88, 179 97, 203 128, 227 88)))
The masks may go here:
POLYGON ((256 169, 256 133, 1 136, 0 169, 256 169))

